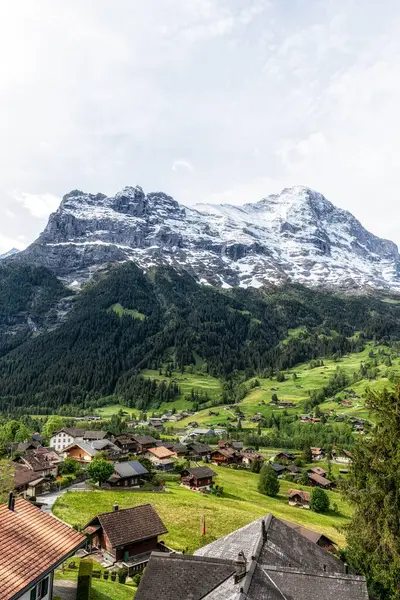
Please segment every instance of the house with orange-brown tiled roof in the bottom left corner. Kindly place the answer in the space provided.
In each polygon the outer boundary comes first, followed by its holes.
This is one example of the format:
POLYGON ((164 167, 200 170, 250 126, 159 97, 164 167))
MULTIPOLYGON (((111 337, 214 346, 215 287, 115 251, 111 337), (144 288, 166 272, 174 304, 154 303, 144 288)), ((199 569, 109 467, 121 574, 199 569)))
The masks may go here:
POLYGON ((0 598, 51 600, 54 571, 86 538, 62 521, 10 494, 0 506, 0 598))

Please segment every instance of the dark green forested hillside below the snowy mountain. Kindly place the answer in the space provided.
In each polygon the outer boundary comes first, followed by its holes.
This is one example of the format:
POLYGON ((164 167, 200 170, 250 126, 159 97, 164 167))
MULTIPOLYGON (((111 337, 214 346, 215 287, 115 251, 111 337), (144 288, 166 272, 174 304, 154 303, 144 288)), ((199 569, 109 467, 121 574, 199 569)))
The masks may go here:
MULTIPOLYGON (((66 294, 45 269, 27 275, 27 283, 17 278, 10 286, 10 273, 0 272, 0 310, 9 319, 16 307, 32 306, 40 320, 66 294)), ((178 370, 200 360, 223 381, 234 382, 239 373, 268 376, 300 361, 356 351, 365 339, 400 339, 400 305, 300 285, 222 290, 201 286, 187 273, 157 268, 144 274, 128 263, 87 284, 57 328, 24 335, 10 351, 4 345, 0 410, 84 407, 114 393, 146 408, 179 393, 173 382, 157 384, 140 374, 159 369, 167 356, 178 370)), ((232 399, 229 389, 233 385, 224 386, 225 401, 232 399)))

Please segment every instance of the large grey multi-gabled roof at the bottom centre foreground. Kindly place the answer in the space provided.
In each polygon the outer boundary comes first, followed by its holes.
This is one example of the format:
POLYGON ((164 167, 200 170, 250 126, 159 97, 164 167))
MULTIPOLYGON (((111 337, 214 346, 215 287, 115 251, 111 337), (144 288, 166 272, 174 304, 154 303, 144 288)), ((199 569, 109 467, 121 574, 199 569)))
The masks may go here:
POLYGON ((193 556, 154 552, 135 600, 368 600, 364 577, 267 515, 193 556))

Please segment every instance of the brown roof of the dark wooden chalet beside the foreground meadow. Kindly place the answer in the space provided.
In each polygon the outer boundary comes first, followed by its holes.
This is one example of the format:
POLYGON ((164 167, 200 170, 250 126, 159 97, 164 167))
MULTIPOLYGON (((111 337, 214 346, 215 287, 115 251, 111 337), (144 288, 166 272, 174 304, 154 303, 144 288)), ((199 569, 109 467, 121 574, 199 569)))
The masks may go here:
POLYGON ((102 526, 113 548, 168 533, 151 504, 101 513, 86 527, 95 525, 97 522, 102 526))

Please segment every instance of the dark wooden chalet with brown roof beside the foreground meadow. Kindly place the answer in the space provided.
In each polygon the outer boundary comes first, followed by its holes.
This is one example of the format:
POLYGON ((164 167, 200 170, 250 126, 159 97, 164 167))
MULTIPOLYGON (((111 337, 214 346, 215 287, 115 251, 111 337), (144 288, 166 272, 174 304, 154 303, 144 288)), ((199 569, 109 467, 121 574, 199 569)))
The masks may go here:
MULTIPOLYGON (((160 549, 158 537, 168 533, 151 504, 119 510, 94 517, 84 529, 90 546, 103 552, 113 563, 142 570, 153 550, 160 549)), ((121 565, 121 566, 122 566, 121 565)))

